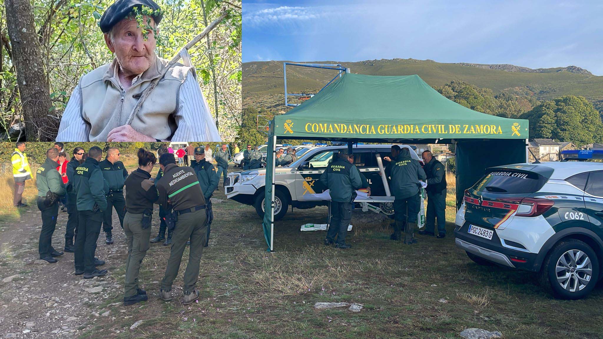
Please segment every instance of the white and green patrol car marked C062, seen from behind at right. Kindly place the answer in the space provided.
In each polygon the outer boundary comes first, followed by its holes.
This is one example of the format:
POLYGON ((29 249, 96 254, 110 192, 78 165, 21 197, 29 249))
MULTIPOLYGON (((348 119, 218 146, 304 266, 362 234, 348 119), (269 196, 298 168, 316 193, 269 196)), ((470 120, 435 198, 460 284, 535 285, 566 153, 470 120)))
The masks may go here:
POLYGON ((539 272, 555 297, 581 299, 603 276, 603 164, 489 168, 455 223, 456 246, 473 261, 539 272))

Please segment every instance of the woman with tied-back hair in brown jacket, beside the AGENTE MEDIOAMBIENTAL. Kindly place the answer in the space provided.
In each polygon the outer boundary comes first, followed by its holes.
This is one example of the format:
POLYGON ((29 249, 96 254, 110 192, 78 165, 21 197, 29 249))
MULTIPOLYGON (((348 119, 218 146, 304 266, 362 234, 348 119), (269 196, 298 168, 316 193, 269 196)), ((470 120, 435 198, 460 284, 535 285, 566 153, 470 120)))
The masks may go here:
POLYGON ((149 249, 153 203, 159 195, 151 180, 151 171, 157 162, 155 154, 138 150, 138 168, 125 179, 124 233, 128 239, 128 259, 125 261, 124 305, 148 299, 147 292, 138 284, 142 259, 149 249))

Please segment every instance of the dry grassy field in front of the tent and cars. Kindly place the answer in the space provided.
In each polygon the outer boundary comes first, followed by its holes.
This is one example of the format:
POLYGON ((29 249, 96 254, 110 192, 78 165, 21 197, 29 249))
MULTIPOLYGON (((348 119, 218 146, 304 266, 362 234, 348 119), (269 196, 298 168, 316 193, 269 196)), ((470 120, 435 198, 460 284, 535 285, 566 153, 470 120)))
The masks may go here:
MULTIPOLYGON (((295 209, 276 224, 275 252, 269 253, 254 209, 224 200, 220 189, 214 197, 199 302, 159 300, 169 249, 152 244, 140 271, 148 302, 112 305, 123 297, 122 290, 112 291, 90 307, 115 316, 91 316, 93 329, 81 337, 458 338, 465 328, 482 328, 505 338, 602 338, 601 288, 585 300, 555 300, 541 291, 534 274, 474 264, 454 246, 453 207, 446 211, 449 236, 418 236, 414 246, 389 239, 387 217, 356 210, 349 250, 324 246, 324 232, 300 232, 301 224, 325 220, 326 208, 295 209), (315 302, 364 308, 317 311, 315 302), (136 320, 143 323, 130 331, 136 320)), ((125 261, 125 253, 119 255, 125 261)), ((188 250, 174 282, 176 297, 187 260, 188 250)), ((124 266, 110 274, 122 284, 124 266)))

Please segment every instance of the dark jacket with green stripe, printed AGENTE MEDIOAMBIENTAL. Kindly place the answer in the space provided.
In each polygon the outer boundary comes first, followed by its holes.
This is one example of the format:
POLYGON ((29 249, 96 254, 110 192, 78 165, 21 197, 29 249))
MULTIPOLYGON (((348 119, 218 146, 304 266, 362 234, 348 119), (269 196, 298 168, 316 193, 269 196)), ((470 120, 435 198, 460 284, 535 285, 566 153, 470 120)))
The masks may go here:
POLYGON ((159 191, 157 203, 166 211, 170 209, 182 211, 205 204, 197 174, 189 166, 177 166, 175 163, 170 163, 165 167, 163 176, 155 183, 155 186, 159 191))

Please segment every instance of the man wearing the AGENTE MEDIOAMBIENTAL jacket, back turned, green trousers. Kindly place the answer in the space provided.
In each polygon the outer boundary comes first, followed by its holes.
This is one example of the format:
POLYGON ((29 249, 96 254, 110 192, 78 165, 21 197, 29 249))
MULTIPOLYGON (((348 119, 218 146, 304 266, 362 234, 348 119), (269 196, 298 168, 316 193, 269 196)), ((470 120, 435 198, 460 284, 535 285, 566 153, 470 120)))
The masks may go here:
MULTIPOLYGON (((191 239, 189 262, 183 279, 184 299, 182 300, 184 305, 189 305, 199 298, 195 284, 197 284, 201 254, 207 237, 205 198, 197 175, 191 167, 176 166, 174 156, 171 154, 163 154, 159 158, 159 165, 163 170, 163 177, 155 183, 159 191, 157 202, 166 211, 172 210, 171 215, 174 217, 172 247, 159 297, 164 301, 172 300, 172 283, 178 275, 186 241, 191 239)), ((168 223, 168 227, 170 224, 168 223)))

